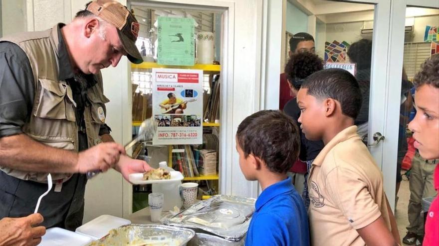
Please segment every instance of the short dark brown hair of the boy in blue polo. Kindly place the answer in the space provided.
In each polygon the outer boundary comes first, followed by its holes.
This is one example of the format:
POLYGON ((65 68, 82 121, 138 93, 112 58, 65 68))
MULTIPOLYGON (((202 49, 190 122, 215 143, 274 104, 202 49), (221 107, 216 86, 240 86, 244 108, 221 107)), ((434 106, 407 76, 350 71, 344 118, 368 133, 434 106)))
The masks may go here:
POLYGON ((279 110, 261 110, 245 118, 236 139, 245 158, 252 154, 277 173, 286 173, 300 151, 296 123, 279 110))

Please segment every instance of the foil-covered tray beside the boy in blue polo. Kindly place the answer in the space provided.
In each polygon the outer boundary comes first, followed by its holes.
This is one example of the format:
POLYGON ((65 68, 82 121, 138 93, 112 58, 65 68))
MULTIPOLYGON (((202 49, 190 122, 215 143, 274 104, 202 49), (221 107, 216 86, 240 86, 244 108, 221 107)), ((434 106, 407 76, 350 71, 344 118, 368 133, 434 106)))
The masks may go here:
POLYGON ((213 196, 165 220, 164 224, 201 229, 226 240, 239 241, 247 232, 255 201, 238 196, 213 196))

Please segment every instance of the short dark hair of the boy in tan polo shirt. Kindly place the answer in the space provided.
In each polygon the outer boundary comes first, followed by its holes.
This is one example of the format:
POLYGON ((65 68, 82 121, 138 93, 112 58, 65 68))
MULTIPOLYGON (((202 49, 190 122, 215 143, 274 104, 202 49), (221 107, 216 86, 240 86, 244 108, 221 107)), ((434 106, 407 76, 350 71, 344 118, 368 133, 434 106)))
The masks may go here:
POLYGON ((325 69, 305 79, 302 88, 316 98, 332 98, 340 102, 343 114, 355 119, 361 107, 361 91, 357 80, 343 69, 325 69))

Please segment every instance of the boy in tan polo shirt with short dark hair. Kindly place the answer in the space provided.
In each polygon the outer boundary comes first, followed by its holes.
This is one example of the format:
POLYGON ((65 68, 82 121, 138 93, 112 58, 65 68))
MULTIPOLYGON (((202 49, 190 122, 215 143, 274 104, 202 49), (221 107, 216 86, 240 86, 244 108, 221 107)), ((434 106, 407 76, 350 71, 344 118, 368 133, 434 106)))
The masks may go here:
POLYGON ((297 102, 306 138, 325 144, 308 178, 311 245, 398 245, 382 173, 354 125, 358 82, 347 71, 322 70, 305 79, 297 102))

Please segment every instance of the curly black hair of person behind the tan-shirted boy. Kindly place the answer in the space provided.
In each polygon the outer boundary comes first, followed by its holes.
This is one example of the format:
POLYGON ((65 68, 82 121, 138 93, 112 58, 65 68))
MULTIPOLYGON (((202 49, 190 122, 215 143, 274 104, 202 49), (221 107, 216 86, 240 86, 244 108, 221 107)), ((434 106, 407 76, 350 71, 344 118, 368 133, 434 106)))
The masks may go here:
POLYGON ((322 69, 323 60, 311 52, 295 53, 285 65, 286 78, 297 90, 300 89, 303 79, 322 69))

